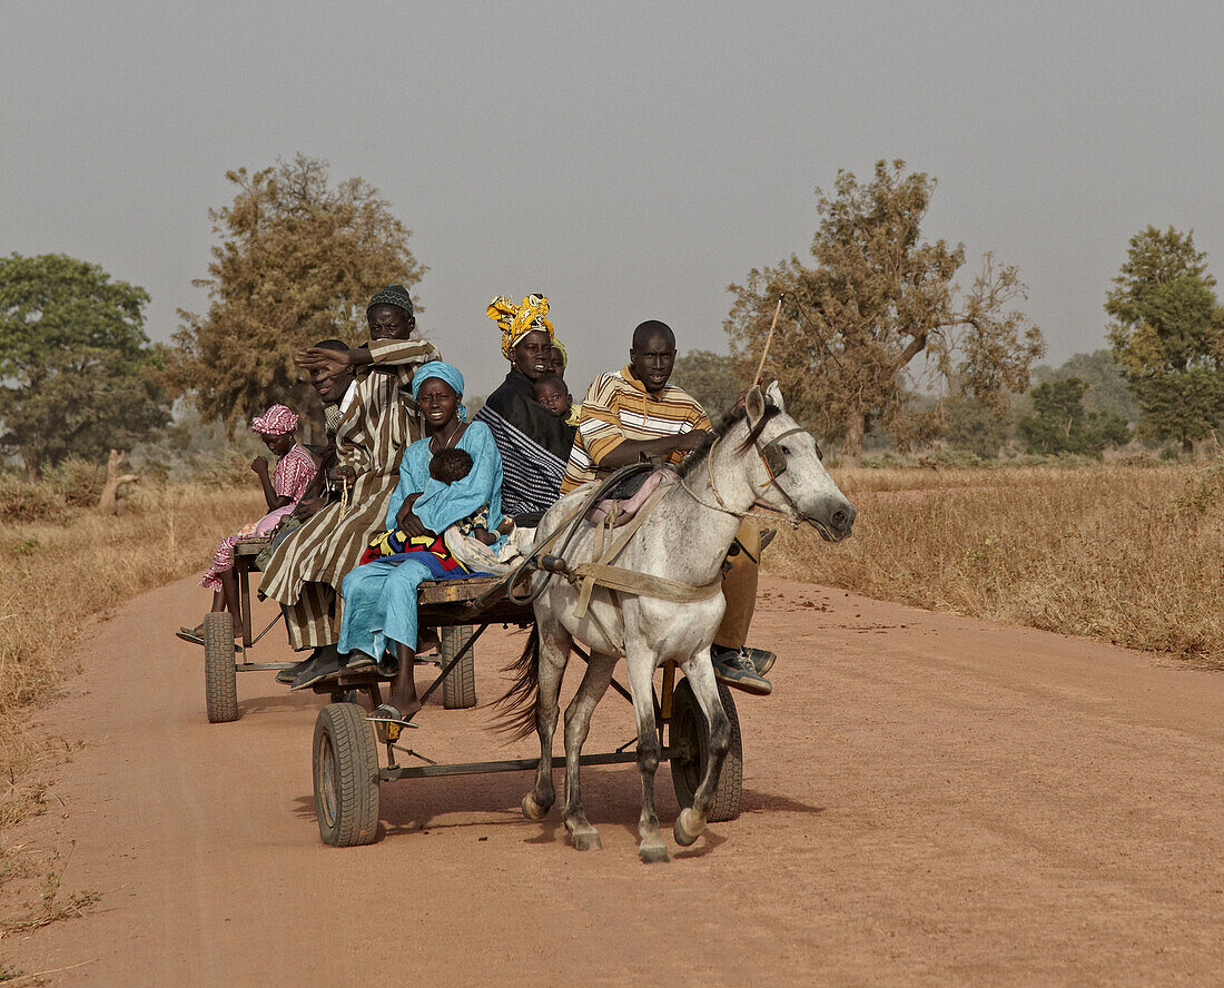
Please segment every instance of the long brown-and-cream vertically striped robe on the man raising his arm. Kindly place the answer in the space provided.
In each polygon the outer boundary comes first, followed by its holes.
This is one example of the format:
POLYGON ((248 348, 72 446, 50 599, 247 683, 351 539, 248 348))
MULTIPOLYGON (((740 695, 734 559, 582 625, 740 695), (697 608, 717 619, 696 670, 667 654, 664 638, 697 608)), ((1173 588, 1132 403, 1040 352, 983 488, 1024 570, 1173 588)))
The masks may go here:
POLYGON ((328 504, 293 531, 272 553, 259 584, 261 593, 285 606, 289 642, 299 651, 339 638, 335 588, 382 531, 400 457, 421 437, 412 375, 442 359, 420 339, 375 340, 370 355, 373 364, 357 367, 356 395, 335 432, 338 462, 357 475, 348 511, 341 515, 339 503, 328 504))

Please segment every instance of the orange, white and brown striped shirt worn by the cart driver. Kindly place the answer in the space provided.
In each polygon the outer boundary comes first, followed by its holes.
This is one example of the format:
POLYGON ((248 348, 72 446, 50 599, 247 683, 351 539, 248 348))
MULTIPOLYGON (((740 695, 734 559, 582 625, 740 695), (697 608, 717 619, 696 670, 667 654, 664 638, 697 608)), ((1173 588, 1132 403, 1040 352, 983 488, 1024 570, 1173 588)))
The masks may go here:
MULTIPOLYGON (((599 463, 625 440, 649 442, 694 429, 710 429, 710 419, 683 388, 665 384, 659 394, 651 394, 629 366, 616 373, 601 373, 583 399, 578 437, 569 451, 561 492, 569 493, 583 484, 608 476, 612 471, 601 469, 599 463)), ((676 464, 685 455, 677 451, 670 453, 666 462, 676 464)))

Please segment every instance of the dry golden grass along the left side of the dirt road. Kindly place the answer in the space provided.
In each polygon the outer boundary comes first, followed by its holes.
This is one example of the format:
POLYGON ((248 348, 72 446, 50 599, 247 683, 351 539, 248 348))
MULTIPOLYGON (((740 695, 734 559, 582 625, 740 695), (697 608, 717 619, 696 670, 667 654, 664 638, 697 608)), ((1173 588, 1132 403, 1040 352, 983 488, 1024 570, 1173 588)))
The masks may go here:
POLYGON ((136 488, 121 517, 70 508, 54 522, 2 526, 0 777, 9 791, 0 798, 0 826, 37 807, 39 784, 21 781, 33 763, 61 757, 62 744, 26 730, 27 710, 56 695, 76 671, 76 646, 89 624, 136 594, 202 572, 217 541, 262 507, 250 485, 174 485, 136 488))

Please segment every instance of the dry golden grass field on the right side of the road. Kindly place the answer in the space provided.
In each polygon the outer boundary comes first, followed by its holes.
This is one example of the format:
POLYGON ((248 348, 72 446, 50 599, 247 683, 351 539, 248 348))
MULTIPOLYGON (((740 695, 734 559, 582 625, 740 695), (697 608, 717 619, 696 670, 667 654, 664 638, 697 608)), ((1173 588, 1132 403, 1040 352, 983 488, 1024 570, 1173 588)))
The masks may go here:
POLYGON ((766 572, 1224 667, 1224 460, 836 473, 859 519, 766 572))

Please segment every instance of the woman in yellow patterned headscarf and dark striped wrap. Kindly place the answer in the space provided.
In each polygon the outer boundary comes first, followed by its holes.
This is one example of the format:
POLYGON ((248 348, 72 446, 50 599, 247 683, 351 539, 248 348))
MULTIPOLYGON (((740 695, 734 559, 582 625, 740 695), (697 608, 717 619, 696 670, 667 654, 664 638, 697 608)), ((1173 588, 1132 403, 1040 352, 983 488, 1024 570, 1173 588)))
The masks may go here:
MULTIPOLYGON (((548 321, 548 300, 528 295, 519 305, 506 295, 488 304, 485 315, 502 333, 502 355, 510 372, 485 402, 476 419, 492 431, 502 454, 502 503, 510 517, 546 511, 561 493, 569 459, 570 431, 535 402, 535 381, 552 373, 556 339, 548 321)), ((530 523, 530 518, 524 519, 530 523)))

